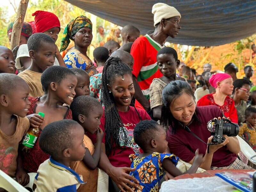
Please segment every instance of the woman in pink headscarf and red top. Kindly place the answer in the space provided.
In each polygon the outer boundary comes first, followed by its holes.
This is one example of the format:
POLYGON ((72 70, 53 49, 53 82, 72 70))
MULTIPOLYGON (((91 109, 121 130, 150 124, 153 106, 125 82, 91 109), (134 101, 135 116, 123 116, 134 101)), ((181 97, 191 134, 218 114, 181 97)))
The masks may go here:
POLYGON ((225 73, 217 73, 211 76, 209 83, 216 89, 216 92, 202 97, 197 101, 197 106, 216 105, 224 116, 238 123, 235 101, 228 96, 232 94, 234 88, 232 77, 225 73))

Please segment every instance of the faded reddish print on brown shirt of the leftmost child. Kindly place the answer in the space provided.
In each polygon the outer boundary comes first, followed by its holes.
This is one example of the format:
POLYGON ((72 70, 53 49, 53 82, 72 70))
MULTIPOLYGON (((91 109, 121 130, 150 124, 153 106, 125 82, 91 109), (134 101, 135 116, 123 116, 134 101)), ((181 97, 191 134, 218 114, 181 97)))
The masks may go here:
POLYGON ((0 147, 0 169, 9 175, 9 168, 13 164, 15 155, 12 154, 13 147, 5 148, 4 145, 0 147))

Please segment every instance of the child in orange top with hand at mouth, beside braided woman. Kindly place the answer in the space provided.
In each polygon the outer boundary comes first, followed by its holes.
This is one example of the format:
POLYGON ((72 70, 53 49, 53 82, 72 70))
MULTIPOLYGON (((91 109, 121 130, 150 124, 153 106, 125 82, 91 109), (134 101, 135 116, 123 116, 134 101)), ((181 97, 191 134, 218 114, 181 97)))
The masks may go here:
MULTIPOLYGON (((81 69, 83 70, 83 69, 81 69)), ((71 162, 70 168, 83 176, 86 185, 77 191, 97 191, 98 170, 103 132, 100 129, 100 119, 103 114, 101 103, 92 97, 77 97, 70 106, 73 119, 84 128, 85 156, 82 161, 71 162), (87 133, 97 134, 97 142, 93 145, 87 133)))

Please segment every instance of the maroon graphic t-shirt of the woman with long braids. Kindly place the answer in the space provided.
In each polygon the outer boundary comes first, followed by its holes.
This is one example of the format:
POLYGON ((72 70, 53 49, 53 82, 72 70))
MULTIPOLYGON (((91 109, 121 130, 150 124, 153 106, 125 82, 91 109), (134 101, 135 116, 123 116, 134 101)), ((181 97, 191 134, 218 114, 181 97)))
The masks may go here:
MULTIPOLYGON (((137 108, 138 113, 142 120, 151 120, 150 116, 145 110, 137 108)), ((130 106, 129 111, 121 112, 118 111, 119 116, 123 122, 124 132, 128 137, 128 145, 125 146, 125 149, 122 151, 122 148, 115 145, 112 146, 111 154, 108 156, 110 163, 115 167, 130 167, 132 162, 129 159, 129 155, 142 153, 142 149, 134 142, 133 139, 133 130, 137 123, 140 122, 140 117, 138 113, 135 111, 134 107, 130 106), (116 149, 114 153, 114 149, 116 149), (122 152, 121 152, 122 151, 122 152), (121 152, 121 153, 120 153, 121 152)), ((105 113, 103 113, 102 118, 100 119, 100 128, 105 132, 105 113)), ((120 130, 119 132, 119 141, 122 146, 124 146, 124 132, 120 130)), ((96 142, 96 135, 88 134, 93 143, 96 142)), ((104 137, 102 139, 102 143, 106 141, 106 133, 104 133, 104 137)))

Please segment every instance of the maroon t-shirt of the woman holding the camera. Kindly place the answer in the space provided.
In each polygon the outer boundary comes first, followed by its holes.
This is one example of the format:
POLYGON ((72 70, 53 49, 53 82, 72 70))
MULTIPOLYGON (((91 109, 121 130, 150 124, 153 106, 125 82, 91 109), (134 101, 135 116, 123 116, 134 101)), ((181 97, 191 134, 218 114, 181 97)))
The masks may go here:
MULTIPOLYGON (((201 124, 193 122, 188 125, 191 132, 195 133, 205 143, 211 136, 210 122, 214 117, 222 117, 222 112, 217 106, 209 105, 196 107, 196 115, 201 121, 201 124)), ((166 140, 171 153, 180 157, 185 162, 189 162, 195 156, 196 149, 199 148, 199 153, 205 154, 207 145, 198 140, 191 133, 185 131, 181 126, 178 126, 176 133, 172 133, 172 127, 167 130, 166 140)), ((214 167, 228 166, 235 161, 237 155, 230 152, 226 146, 218 149, 212 157, 212 165, 214 167)))

